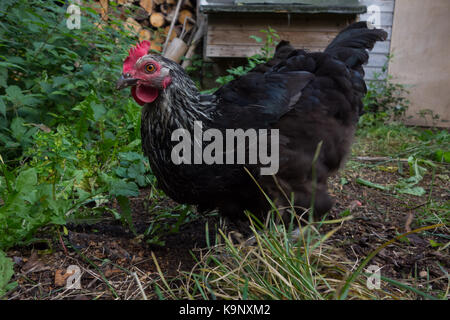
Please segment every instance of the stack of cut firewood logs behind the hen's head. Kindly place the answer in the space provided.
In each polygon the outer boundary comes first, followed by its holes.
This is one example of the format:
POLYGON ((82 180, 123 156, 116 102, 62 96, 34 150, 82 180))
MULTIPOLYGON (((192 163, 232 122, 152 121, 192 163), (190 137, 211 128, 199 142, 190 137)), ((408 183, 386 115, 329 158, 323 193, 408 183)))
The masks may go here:
POLYGON ((120 18, 125 30, 136 34, 141 41, 150 40, 153 50, 162 52, 164 45, 175 37, 187 42, 194 36, 195 0, 114 0, 118 10, 112 10, 111 2, 91 0, 84 4, 97 11, 105 23, 110 15, 120 18), (180 5, 178 1, 181 1, 180 5))

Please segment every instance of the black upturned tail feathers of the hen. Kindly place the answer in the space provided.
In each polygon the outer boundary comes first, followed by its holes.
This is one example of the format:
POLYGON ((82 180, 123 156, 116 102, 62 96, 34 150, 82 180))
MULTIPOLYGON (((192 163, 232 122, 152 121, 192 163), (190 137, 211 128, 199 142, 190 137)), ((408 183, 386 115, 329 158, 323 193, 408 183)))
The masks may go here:
POLYGON ((366 21, 349 25, 328 45, 325 52, 344 62, 349 68, 358 69, 367 63, 369 54, 377 41, 386 40, 382 29, 368 28, 366 21))

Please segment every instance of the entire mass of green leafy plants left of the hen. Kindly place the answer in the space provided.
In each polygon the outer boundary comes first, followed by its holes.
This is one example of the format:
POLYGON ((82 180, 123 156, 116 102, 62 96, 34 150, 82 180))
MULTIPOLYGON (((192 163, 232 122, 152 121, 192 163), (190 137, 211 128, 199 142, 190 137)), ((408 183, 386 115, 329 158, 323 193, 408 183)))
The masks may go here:
POLYGON ((63 2, 0 4, 0 249, 93 200, 117 198, 116 217, 132 227, 126 197, 150 183, 140 107, 114 90, 134 40, 114 17, 117 30, 100 29, 94 10, 82 13, 81 29, 69 30, 63 2))

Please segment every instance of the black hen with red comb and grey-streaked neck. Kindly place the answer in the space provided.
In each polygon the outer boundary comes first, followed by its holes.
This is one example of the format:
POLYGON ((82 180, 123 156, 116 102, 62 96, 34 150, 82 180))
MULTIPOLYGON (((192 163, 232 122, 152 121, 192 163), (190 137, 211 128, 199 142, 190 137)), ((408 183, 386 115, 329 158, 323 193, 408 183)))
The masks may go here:
MULTIPOLYGON (((284 208, 291 200, 296 207, 308 208, 314 194, 318 218, 332 206, 327 179, 342 166, 362 111, 367 49, 386 36, 358 22, 339 33, 324 52, 294 50, 282 41, 271 61, 212 95, 201 95, 178 64, 147 54, 149 43, 144 42, 130 50, 118 88, 132 86, 133 97, 143 105, 143 149, 159 187, 175 201, 197 205, 201 211, 217 208, 224 216, 241 219, 244 210, 266 216, 271 206, 262 190, 284 208), (278 172, 261 175, 260 161, 175 164, 172 151, 178 142, 172 141, 172 133, 184 128, 193 134, 195 121, 201 121, 203 131, 214 128, 222 133, 278 129, 278 172)), ((220 158, 221 152, 211 154, 220 158)))

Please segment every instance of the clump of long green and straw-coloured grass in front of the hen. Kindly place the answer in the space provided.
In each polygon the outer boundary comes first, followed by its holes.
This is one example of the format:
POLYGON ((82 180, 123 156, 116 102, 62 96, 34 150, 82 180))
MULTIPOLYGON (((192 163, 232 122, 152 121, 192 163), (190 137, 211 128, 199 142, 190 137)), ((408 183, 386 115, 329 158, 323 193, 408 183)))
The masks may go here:
MULTIPOLYGON (((346 217, 328 223, 342 223, 346 217)), ((320 224, 319 224, 320 225, 320 224)), ((270 219, 265 231, 252 224, 254 245, 233 243, 219 230, 221 244, 200 251, 197 264, 184 273, 182 285, 159 288, 170 298, 230 300, 325 300, 339 298, 355 263, 327 240, 316 224, 300 227, 298 239, 284 225, 270 219)), ((352 279, 347 299, 405 299, 408 290, 370 290, 367 278, 352 279)), ((180 281, 178 278, 177 281, 180 281)))

